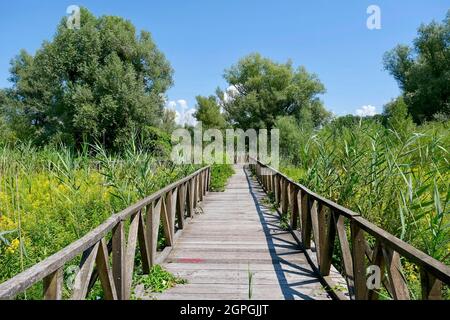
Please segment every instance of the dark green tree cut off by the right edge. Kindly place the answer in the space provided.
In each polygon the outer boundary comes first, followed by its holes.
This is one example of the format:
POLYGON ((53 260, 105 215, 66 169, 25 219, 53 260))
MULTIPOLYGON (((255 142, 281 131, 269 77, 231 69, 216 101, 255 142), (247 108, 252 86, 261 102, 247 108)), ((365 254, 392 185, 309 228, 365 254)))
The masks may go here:
POLYGON ((403 90, 416 123, 437 115, 450 116, 450 11, 442 23, 422 25, 413 47, 387 52, 385 68, 403 90))

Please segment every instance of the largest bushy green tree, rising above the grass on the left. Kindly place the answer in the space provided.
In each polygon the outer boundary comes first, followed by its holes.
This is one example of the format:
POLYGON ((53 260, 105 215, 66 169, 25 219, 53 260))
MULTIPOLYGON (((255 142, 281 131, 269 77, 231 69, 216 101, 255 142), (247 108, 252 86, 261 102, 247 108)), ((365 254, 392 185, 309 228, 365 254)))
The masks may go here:
POLYGON ((12 61, 10 116, 25 119, 39 143, 97 139, 114 147, 158 125, 173 71, 150 33, 84 8, 79 29, 66 20, 35 55, 21 51, 12 61))

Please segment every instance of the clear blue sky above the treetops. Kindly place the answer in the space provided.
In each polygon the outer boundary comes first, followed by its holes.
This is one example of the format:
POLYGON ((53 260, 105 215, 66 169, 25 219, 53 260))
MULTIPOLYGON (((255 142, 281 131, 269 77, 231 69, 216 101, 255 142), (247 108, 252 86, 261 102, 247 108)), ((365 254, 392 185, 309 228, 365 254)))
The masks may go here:
POLYGON ((196 95, 226 88, 224 69, 260 52, 279 62, 290 58, 318 74, 327 88, 322 99, 338 115, 363 106, 381 112, 399 94, 383 70, 383 53, 410 44, 421 23, 441 21, 450 8, 449 0, 1 1, 0 87, 10 85, 11 58, 51 39, 72 4, 96 15, 120 15, 150 31, 175 69, 168 97, 184 100, 178 109, 192 108, 196 95), (372 4, 381 9, 380 30, 366 27, 372 4))

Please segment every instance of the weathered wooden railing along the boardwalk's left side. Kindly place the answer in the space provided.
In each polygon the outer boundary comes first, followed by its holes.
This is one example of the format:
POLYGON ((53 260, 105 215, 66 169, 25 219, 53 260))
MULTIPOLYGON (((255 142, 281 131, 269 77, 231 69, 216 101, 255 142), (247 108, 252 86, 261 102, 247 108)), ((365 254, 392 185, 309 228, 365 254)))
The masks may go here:
POLYGON ((64 266, 80 255, 71 299, 85 299, 97 280, 105 299, 129 299, 137 246, 143 272, 148 273, 167 256, 185 220, 194 217, 198 202, 209 190, 210 179, 210 167, 205 167, 111 216, 81 239, 0 284, 0 299, 14 299, 43 281, 43 298, 61 300, 64 266), (166 247, 158 252, 160 222, 166 247))

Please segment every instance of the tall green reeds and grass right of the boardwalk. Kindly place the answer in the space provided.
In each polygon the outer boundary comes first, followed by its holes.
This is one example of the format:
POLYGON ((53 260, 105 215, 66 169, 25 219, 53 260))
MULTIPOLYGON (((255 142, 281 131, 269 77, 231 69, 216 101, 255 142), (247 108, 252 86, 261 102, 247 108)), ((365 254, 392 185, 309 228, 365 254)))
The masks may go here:
MULTIPOLYGON (((304 132, 298 160, 281 171, 450 265, 448 126, 399 134, 373 121, 329 125, 304 132)), ((339 267, 338 256, 334 262, 339 267)), ((419 297, 419 270, 405 259, 402 265, 411 296, 419 297)))

